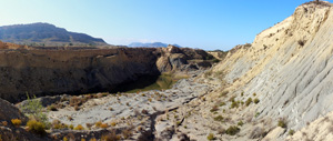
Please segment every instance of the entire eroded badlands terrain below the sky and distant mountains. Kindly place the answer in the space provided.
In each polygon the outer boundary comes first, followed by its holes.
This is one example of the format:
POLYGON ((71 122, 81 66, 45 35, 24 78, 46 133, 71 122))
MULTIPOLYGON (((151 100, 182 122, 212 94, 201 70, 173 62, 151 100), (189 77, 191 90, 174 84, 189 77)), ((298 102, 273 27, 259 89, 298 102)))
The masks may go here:
POLYGON ((228 52, 1 42, 0 141, 330 141, 331 6, 304 3, 228 52), (119 89, 140 78, 160 87, 119 89))

